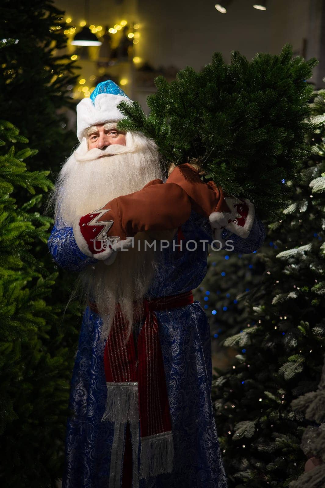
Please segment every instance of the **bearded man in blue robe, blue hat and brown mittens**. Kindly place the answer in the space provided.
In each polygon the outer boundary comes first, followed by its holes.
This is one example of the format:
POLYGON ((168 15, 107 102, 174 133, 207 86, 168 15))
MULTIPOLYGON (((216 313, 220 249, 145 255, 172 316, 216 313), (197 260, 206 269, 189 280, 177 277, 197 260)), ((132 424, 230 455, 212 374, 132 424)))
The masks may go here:
POLYGON ((253 252, 264 227, 196 164, 166 178, 155 143, 118 130, 121 100, 105 81, 78 104, 80 145, 54 194, 49 249, 86 300, 63 487, 225 488, 208 319, 191 290, 207 244, 253 252))

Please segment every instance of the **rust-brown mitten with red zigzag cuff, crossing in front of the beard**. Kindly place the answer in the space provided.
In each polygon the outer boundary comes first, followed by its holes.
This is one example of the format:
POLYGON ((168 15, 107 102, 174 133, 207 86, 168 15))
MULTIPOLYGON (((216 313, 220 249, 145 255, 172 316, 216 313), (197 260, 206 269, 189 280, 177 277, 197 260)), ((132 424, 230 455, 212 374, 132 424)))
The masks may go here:
POLYGON ((153 180, 142 190, 123 195, 82 216, 73 226, 81 251, 113 262, 115 251, 127 249, 141 231, 178 228, 189 218, 191 203, 175 183, 153 180))

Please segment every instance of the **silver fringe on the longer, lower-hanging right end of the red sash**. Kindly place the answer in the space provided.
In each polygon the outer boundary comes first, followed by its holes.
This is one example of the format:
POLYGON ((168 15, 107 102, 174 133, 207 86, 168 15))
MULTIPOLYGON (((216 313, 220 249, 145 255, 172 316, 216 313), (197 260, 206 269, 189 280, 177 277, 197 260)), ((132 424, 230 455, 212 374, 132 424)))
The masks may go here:
POLYGON ((170 473, 174 467, 172 432, 141 438, 140 478, 170 473))

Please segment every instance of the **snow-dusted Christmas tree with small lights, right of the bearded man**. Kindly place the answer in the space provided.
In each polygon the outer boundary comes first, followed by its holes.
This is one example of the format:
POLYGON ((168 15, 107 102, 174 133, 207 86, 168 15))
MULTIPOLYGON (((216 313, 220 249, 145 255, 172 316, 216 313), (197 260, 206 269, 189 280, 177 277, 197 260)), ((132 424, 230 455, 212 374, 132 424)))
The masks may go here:
POLYGON ((224 343, 237 356, 213 386, 230 488, 287 487, 305 466, 310 420, 291 403, 317 389, 324 361, 324 95, 310 104, 314 131, 300 178, 285 183, 290 204, 268 225, 277 249, 264 255, 259 289, 247 293, 247 322, 224 343))

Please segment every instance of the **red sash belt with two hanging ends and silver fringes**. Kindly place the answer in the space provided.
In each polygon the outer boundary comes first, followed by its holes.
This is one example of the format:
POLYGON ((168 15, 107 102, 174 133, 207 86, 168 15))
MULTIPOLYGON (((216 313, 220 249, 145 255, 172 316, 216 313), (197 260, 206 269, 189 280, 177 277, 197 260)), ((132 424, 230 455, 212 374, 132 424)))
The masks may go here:
MULTIPOLYGON (((191 303, 192 291, 143 300, 142 310, 135 313, 135 317, 144 319, 138 337, 138 361, 132 334, 125 344, 127 322, 120 307, 106 341, 104 368, 108 399, 103 420, 139 423, 140 419, 143 478, 170 472, 173 466, 170 411, 155 311, 191 303)), ((98 313, 95 304, 90 304, 90 308, 98 313)))

